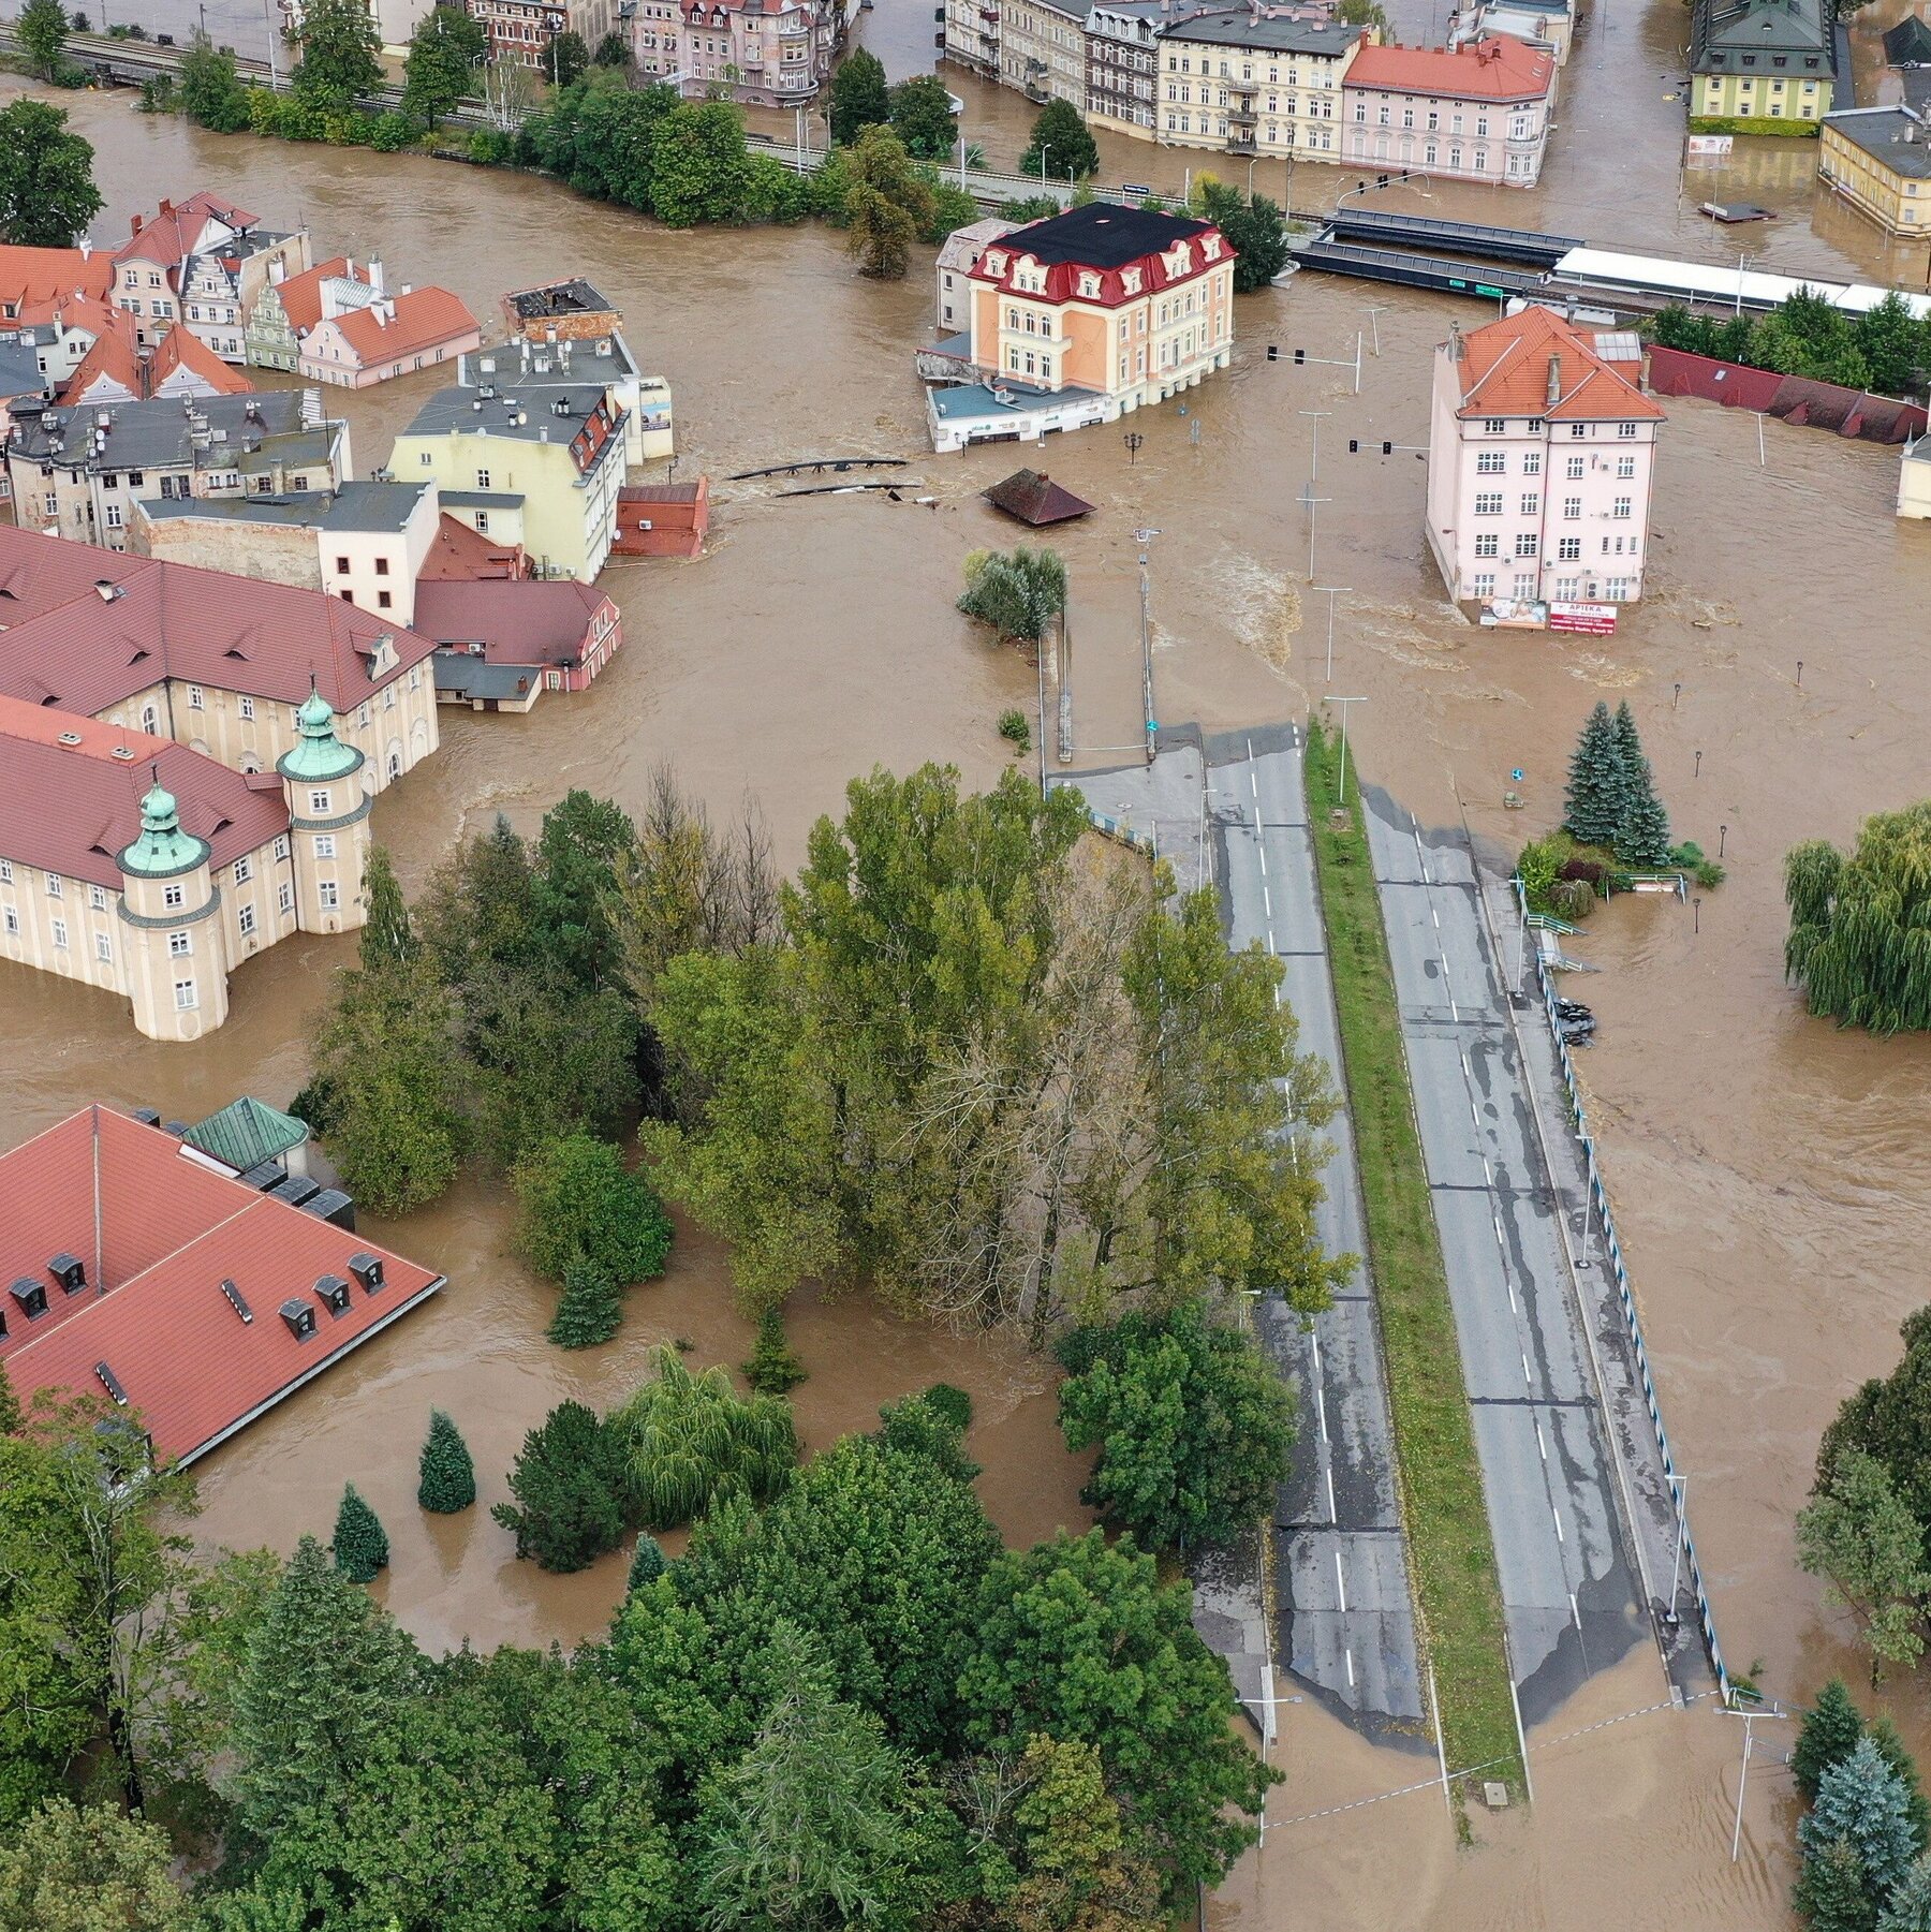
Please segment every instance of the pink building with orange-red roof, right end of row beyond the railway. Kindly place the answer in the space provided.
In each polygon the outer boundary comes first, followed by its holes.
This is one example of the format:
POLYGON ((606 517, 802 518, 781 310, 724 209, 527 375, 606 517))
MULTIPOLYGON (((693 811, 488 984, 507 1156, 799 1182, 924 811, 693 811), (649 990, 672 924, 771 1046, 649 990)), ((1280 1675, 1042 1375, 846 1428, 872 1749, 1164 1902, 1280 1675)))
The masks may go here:
POLYGON ((1349 164, 1533 187, 1548 147, 1556 56, 1512 35, 1363 46, 1341 79, 1349 164))

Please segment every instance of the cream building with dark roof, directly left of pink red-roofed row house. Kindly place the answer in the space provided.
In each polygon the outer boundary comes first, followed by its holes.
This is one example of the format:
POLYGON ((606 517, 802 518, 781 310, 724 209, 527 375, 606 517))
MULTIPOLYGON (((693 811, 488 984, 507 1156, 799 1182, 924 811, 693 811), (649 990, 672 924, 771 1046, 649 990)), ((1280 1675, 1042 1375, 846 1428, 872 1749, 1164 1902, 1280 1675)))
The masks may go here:
POLYGON ((1338 160, 1365 27, 1224 8, 1160 29, 1160 141, 1237 158, 1338 160))

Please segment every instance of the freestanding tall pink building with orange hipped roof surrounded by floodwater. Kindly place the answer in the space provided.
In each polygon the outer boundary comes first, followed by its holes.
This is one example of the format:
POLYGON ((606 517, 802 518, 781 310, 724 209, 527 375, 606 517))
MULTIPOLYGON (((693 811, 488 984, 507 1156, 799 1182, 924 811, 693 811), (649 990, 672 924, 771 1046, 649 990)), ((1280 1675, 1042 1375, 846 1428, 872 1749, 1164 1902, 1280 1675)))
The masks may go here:
POLYGON ((1434 352, 1428 547, 1461 599, 1635 603, 1662 408, 1635 334, 1523 309, 1434 352))

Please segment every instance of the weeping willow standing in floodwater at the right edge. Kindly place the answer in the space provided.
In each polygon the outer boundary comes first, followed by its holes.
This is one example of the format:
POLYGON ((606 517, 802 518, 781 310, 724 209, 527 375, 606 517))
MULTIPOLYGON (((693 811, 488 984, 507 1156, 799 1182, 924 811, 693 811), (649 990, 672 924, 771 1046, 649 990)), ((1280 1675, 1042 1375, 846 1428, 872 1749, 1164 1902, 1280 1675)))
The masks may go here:
POLYGON ((1784 856, 1784 976, 1811 1012, 1873 1034, 1931 1028, 1931 800, 1879 811, 1846 858, 1827 838, 1784 856))

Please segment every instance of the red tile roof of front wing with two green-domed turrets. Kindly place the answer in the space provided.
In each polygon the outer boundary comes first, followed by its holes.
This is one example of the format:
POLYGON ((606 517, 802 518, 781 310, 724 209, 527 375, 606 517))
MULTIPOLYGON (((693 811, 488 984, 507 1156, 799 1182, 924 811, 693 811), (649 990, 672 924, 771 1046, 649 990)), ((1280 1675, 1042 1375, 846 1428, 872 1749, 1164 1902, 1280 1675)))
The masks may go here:
POLYGON ((118 893, 116 860, 141 831, 157 767, 216 867, 288 831, 280 781, 251 784, 172 738, 0 697, 0 856, 118 893))

